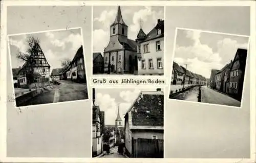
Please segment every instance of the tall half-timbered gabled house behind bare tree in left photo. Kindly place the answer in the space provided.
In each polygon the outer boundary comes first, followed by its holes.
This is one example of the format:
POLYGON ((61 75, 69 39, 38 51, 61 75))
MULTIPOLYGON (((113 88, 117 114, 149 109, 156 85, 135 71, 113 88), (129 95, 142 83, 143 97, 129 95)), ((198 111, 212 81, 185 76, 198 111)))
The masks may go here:
POLYGON ((46 82, 50 80, 50 64, 48 63, 44 52, 37 43, 34 46, 34 52, 28 60, 19 69, 17 82, 19 86, 27 86, 36 82, 46 82))

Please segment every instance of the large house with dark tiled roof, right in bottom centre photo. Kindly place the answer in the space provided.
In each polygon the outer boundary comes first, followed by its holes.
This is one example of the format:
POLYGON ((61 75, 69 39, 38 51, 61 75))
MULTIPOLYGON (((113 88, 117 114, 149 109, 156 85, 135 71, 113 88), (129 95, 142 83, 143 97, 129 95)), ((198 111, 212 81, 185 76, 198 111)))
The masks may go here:
POLYGON ((124 117, 125 153, 163 157, 163 129, 163 91, 140 92, 124 117))

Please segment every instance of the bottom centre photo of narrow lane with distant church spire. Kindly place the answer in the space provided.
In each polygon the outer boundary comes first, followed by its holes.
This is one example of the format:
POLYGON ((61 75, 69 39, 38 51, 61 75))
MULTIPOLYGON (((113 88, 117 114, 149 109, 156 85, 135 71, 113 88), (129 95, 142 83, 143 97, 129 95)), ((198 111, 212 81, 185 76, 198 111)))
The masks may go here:
POLYGON ((93 88, 92 154, 163 158, 163 88, 93 88))

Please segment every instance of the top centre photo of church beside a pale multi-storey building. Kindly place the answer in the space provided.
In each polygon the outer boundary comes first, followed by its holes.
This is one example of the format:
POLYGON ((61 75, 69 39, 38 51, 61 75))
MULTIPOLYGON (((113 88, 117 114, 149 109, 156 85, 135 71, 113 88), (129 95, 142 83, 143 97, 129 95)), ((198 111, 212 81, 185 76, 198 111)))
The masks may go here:
POLYGON ((93 7, 93 75, 163 74, 163 6, 93 7))

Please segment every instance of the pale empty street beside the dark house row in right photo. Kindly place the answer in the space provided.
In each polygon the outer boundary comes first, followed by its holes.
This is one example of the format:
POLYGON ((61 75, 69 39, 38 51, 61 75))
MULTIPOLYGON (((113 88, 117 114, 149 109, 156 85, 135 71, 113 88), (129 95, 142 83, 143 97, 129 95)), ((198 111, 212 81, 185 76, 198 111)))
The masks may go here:
POLYGON ((211 104, 220 104, 220 105, 229 105, 229 106, 238 106, 240 107, 241 102, 235 100, 217 90, 210 89, 207 86, 201 87, 201 101, 203 103, 211 103, 211 104))

